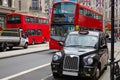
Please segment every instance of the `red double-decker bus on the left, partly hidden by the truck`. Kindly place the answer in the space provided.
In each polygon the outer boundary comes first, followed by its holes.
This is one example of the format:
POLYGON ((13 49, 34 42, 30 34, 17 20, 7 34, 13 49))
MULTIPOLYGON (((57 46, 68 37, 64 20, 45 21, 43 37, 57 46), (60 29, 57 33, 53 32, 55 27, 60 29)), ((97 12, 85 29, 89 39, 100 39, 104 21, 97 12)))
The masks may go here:
POLYGON ((50 39, 49 19, 21 13, 6 16, 6 28, 21 28, 29 44, 45 43, 50 39))

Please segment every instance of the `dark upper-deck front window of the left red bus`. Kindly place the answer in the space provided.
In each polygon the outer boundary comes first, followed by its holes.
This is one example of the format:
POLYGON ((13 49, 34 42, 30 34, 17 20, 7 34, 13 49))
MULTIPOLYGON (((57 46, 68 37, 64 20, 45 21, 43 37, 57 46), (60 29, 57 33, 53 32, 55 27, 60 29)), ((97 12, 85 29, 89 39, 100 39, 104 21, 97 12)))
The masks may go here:
POLYGON ((21 23, 20 15, 10 15, 7 20, 8 24, 18 24, 21 23))

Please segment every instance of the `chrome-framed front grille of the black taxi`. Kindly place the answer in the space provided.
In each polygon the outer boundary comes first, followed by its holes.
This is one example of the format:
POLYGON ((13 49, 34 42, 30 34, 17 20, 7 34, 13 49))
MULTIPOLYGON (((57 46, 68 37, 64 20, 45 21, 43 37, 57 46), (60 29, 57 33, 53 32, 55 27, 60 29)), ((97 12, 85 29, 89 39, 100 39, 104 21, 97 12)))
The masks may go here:
POLYGON ((63 69, 78 71, 79 70, 79 56, 76 56, 76 55, 65 56, 64 62, 63 62, 63 69))

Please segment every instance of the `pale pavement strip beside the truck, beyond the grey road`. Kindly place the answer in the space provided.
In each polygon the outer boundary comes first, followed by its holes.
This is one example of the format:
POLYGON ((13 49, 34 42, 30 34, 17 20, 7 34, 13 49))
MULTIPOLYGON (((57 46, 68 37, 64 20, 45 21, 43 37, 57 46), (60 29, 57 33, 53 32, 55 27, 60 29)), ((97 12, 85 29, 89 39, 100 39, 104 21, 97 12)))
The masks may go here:
MULTIPOLYGON (((18 47, 15 47, 15 48, 18 48, 18 47)), ((23 48, 19 47, 19 49, 17 49, 17 50, 0 52, 0 59, 12 57, 12 56, 16 56, 16 55, 24 55, 24 54, 28 54, 28 53, 32 53, 32 52, 39 52, 39 51, 43 51, 43 50, 49 50, 49 43, 29 45, 27 49, 23 49, 23 48)))

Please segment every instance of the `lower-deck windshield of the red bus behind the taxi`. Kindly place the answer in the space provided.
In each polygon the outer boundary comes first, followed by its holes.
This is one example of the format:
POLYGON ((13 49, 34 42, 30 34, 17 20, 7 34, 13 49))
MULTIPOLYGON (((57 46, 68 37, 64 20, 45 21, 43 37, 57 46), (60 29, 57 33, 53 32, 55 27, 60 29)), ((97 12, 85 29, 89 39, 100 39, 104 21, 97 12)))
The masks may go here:
POLYGON ((50 30, 51 38, 57 41, 64 41, 65 36, 75 30, 74 25, 52 25, 50 30))

